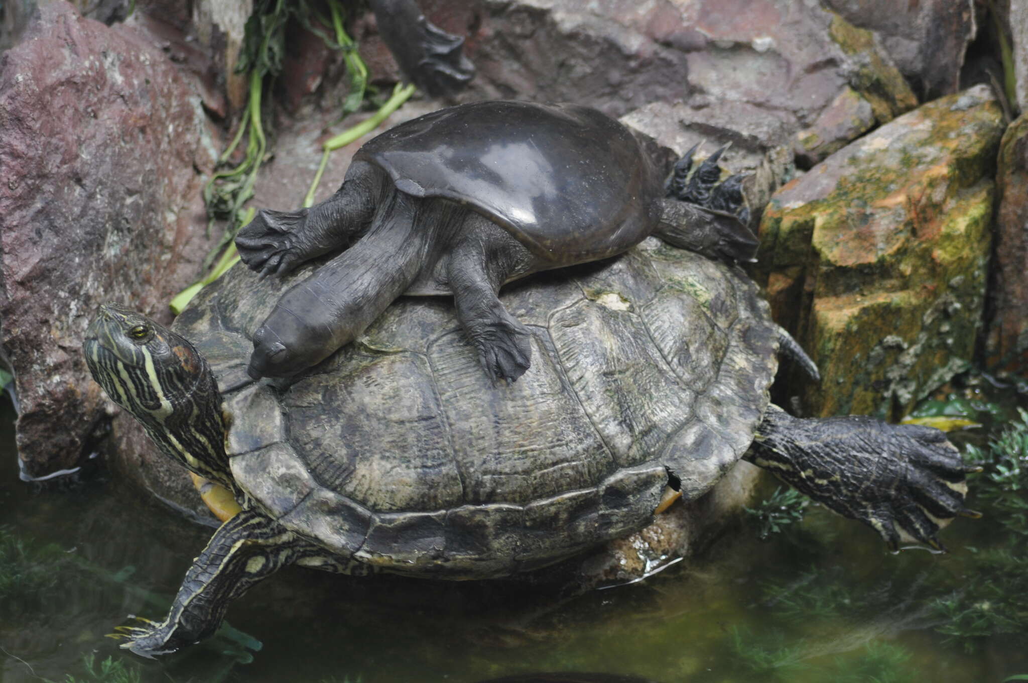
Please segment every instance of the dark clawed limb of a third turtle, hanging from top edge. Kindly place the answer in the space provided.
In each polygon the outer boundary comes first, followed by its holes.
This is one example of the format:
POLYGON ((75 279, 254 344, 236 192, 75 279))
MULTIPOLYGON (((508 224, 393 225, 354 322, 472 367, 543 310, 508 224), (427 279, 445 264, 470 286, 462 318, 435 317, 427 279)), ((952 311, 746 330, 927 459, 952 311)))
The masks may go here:
POLYGON ((450 96, 475 75, 464 38, 431 24, 414 0, 371 0, 378 32, 404 75, 429 97, 450 96))

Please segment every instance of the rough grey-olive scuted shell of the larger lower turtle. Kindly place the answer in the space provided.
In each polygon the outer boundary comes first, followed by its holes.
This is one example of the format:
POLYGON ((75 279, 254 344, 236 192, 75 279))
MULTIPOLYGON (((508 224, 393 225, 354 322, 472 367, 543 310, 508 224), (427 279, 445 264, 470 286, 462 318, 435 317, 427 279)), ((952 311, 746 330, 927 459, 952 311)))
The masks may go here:
POLYGON ((246 373, 250 336, 303 278, 234 267, 175 323, 232 415, 236 481, 282 524, 411 574, 533 569, 648 525, 746 451, 777 367, 767 303, 738 268, 650 238, 501 299, 533 364, 492 386, 447 298, 398 299, 280 393, 246 373))

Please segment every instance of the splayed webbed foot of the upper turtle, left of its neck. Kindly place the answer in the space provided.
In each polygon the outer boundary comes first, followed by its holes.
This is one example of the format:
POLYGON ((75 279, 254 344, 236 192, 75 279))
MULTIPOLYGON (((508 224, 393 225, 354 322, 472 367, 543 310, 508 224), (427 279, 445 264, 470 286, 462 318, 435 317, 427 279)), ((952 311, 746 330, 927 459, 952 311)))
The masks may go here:
POLYGON ((257 212, 257 216, 235 237, 240 258, 262 278, 289 274, 304 260, 296 247, 294 231, 306 216, 306 209, 290 212, 262 209, 257 212))

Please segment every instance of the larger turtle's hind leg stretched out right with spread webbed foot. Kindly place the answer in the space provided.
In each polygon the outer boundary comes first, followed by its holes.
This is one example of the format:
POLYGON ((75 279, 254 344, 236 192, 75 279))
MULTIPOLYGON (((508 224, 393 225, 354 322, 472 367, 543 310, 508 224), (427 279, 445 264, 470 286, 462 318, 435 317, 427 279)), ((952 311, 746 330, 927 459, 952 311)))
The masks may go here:
POLYGON ((938 429, 849 416, 801 420, 768 407, 747 460, 839 514, 901 543, 944 550, 940 529, 964 507, 975 471, 938 429))

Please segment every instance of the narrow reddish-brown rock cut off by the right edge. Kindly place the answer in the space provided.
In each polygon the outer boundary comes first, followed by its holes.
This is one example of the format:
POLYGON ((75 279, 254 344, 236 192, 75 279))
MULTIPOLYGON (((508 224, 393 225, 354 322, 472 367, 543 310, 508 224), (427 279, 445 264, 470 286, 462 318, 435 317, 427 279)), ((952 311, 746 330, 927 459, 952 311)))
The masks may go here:
POLYGON ((987 347, 990 365, 1020 365, 1023 370, 1028 368, 1028 114, 1003 135, 996 185, 999 210, 987 347))

